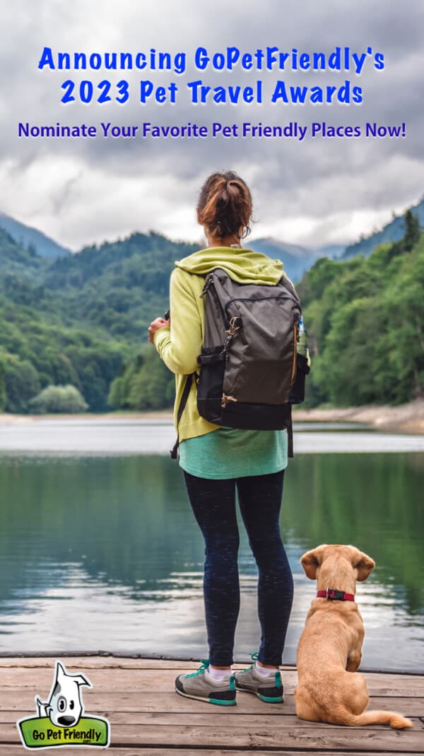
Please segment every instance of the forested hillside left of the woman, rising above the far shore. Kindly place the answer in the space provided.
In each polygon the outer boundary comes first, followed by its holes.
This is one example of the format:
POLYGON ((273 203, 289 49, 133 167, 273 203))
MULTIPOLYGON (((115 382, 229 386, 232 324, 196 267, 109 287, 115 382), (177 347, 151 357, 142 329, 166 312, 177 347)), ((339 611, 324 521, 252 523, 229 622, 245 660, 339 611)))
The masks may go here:
POLYGON ((125 401, 117 406, 172 404, 174 376, 147 326, 169 306, 174 260, 195 249, 132 234, 51 262, 0 229, 0 411, 42 407, 34 400, 48 386, 75 386, 89 411, 110 410, 120 374, 125 401))

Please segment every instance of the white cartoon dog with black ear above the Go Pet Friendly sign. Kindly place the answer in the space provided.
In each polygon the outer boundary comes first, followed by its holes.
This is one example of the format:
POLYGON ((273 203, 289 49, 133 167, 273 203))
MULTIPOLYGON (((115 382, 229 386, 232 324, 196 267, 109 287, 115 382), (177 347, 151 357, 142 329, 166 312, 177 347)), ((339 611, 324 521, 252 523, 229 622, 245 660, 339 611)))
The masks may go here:
POLYGON ((61 662, 56 661, 56 674, 51 686, 50 697, 43 703, 35 697, 39 717, 49 717, 57 727, 72 727, 78 724, 84 714, 81 686, 92 688, 90 680, 83 674, 69 674, 61 662))

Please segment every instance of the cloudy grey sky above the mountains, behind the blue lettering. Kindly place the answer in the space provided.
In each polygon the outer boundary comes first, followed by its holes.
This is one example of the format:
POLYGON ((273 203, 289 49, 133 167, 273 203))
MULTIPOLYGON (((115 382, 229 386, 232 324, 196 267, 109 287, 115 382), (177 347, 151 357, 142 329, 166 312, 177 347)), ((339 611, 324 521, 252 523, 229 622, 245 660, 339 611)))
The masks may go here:
MULTIPOLYGON (((132 231, 160 231, 200 240, 194 208, 210 172, 233 169, 248 181, 255 205, 252 237, 318 246, 348 243, 381 228, 424 194, 424 5, 420 0, 0 0, 0 211, 35 226, 71 249, 132 231), (45 46, 58 52, 156 51, 187 54, 187 70, 39 70, 45 46), (213 55, 323 52, 336 46, 384 54, 376 70, 367 56, 353 71, 233 72, 193 67, 194 51, 213 55), (62 104, 65 79, 107 78, 129 83, 130 98, 99 104, 62 104), (138 101, 139 82, 178 85, 175 104, 138 101), (247 86, 262 79, 259 104, 194 105, 187 82, 247 86), (360 85, 361 104, 271 104, 277 80, 287 86, 360 85), (288 125, 406 125, 404 138, 142 139, 103 138, 113 125, 184 125, 243 122, 288 125), (18 138, 29 125, 96 125, 95 139, 18 138)), ((111 94, 113 94, 113 87, 111 94)), ((94 88, 94 91, 95 88, 94 88)))

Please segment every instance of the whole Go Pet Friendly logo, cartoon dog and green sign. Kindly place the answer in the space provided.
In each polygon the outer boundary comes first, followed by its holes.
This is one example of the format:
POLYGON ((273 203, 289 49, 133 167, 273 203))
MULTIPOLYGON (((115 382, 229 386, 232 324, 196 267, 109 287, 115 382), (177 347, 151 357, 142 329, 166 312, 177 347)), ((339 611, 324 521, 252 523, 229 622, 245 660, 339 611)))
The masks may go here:
POLYGON ((25 748, 60 748, 63 745, 110 744, 110 722, 104 717, 84 717, 82 686, 92 688, 85 674, 69 674, 56 660, 53 685, 48 702, 35 696, 37 717, 17 721, 25 748))

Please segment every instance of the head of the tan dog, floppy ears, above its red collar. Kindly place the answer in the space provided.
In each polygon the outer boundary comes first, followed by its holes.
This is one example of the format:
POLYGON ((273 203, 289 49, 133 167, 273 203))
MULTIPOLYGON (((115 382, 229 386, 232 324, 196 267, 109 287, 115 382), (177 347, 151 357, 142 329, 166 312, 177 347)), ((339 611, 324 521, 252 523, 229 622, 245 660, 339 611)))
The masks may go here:
POLYGON ((321 544, 300 560, 305 574, 317 581, 319 590, 334 588, 354 593, 356 581, 367 580, 376 562, 354 546, 321 544))

